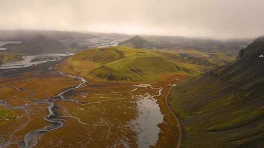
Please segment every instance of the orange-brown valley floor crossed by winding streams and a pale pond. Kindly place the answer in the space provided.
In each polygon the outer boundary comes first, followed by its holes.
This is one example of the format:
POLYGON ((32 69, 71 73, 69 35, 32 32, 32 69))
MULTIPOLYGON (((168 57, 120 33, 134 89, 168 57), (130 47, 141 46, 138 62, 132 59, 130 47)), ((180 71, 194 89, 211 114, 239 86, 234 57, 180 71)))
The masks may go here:
POLYGON ((177 123, 166 96, 179 78, 149 86, 81 84, 54 70, 2 77, 0 147, 175 148, 177 123))

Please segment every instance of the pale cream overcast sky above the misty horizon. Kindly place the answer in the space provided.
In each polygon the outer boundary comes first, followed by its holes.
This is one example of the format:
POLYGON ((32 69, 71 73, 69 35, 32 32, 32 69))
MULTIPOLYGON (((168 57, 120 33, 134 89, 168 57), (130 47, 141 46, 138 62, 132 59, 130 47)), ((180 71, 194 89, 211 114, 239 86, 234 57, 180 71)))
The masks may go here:
POLYGON ((264 35, 264 0, 0 0, 0 29, 264 35))

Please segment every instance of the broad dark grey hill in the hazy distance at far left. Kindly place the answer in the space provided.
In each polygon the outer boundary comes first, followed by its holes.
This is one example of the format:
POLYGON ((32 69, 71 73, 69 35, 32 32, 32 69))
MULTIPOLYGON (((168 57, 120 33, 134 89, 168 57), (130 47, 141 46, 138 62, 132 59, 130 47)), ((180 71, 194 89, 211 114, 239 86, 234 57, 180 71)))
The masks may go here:
POLYGON ((40 55, 71 51, 71 48, 61 41, 43 35, 37 35, 32 38, 25 39, 23 42, 18 44, 5 44, 1 47, 7 48, 6 52, 25 55, 40 55))

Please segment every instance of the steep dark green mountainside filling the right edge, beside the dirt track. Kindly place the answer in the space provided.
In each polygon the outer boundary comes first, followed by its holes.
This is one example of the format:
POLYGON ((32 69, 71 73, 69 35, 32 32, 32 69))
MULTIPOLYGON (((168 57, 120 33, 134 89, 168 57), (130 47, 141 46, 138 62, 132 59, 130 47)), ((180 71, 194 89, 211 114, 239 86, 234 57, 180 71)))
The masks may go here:
POLYGON ((170 106, 181 120, 182 148, 264 146, 264 40, 236 61, 173 87, 170 106))

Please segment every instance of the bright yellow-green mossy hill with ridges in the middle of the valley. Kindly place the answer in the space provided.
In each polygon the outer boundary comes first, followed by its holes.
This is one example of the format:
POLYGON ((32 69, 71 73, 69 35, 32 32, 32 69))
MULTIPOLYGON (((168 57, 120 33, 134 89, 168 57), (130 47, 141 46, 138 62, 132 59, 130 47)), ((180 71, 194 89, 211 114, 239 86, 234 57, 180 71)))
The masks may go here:
MULTIPOLYGON (((119 46, 89 49, 72 56, 70 61, 70 63, 99 64, 85 74, 86 77, 95 80, 156 82, 174 74, 199 73, 177 65, 153 51, 119 46)), ((78 69, 78 71, 85 70, 78 69)))

